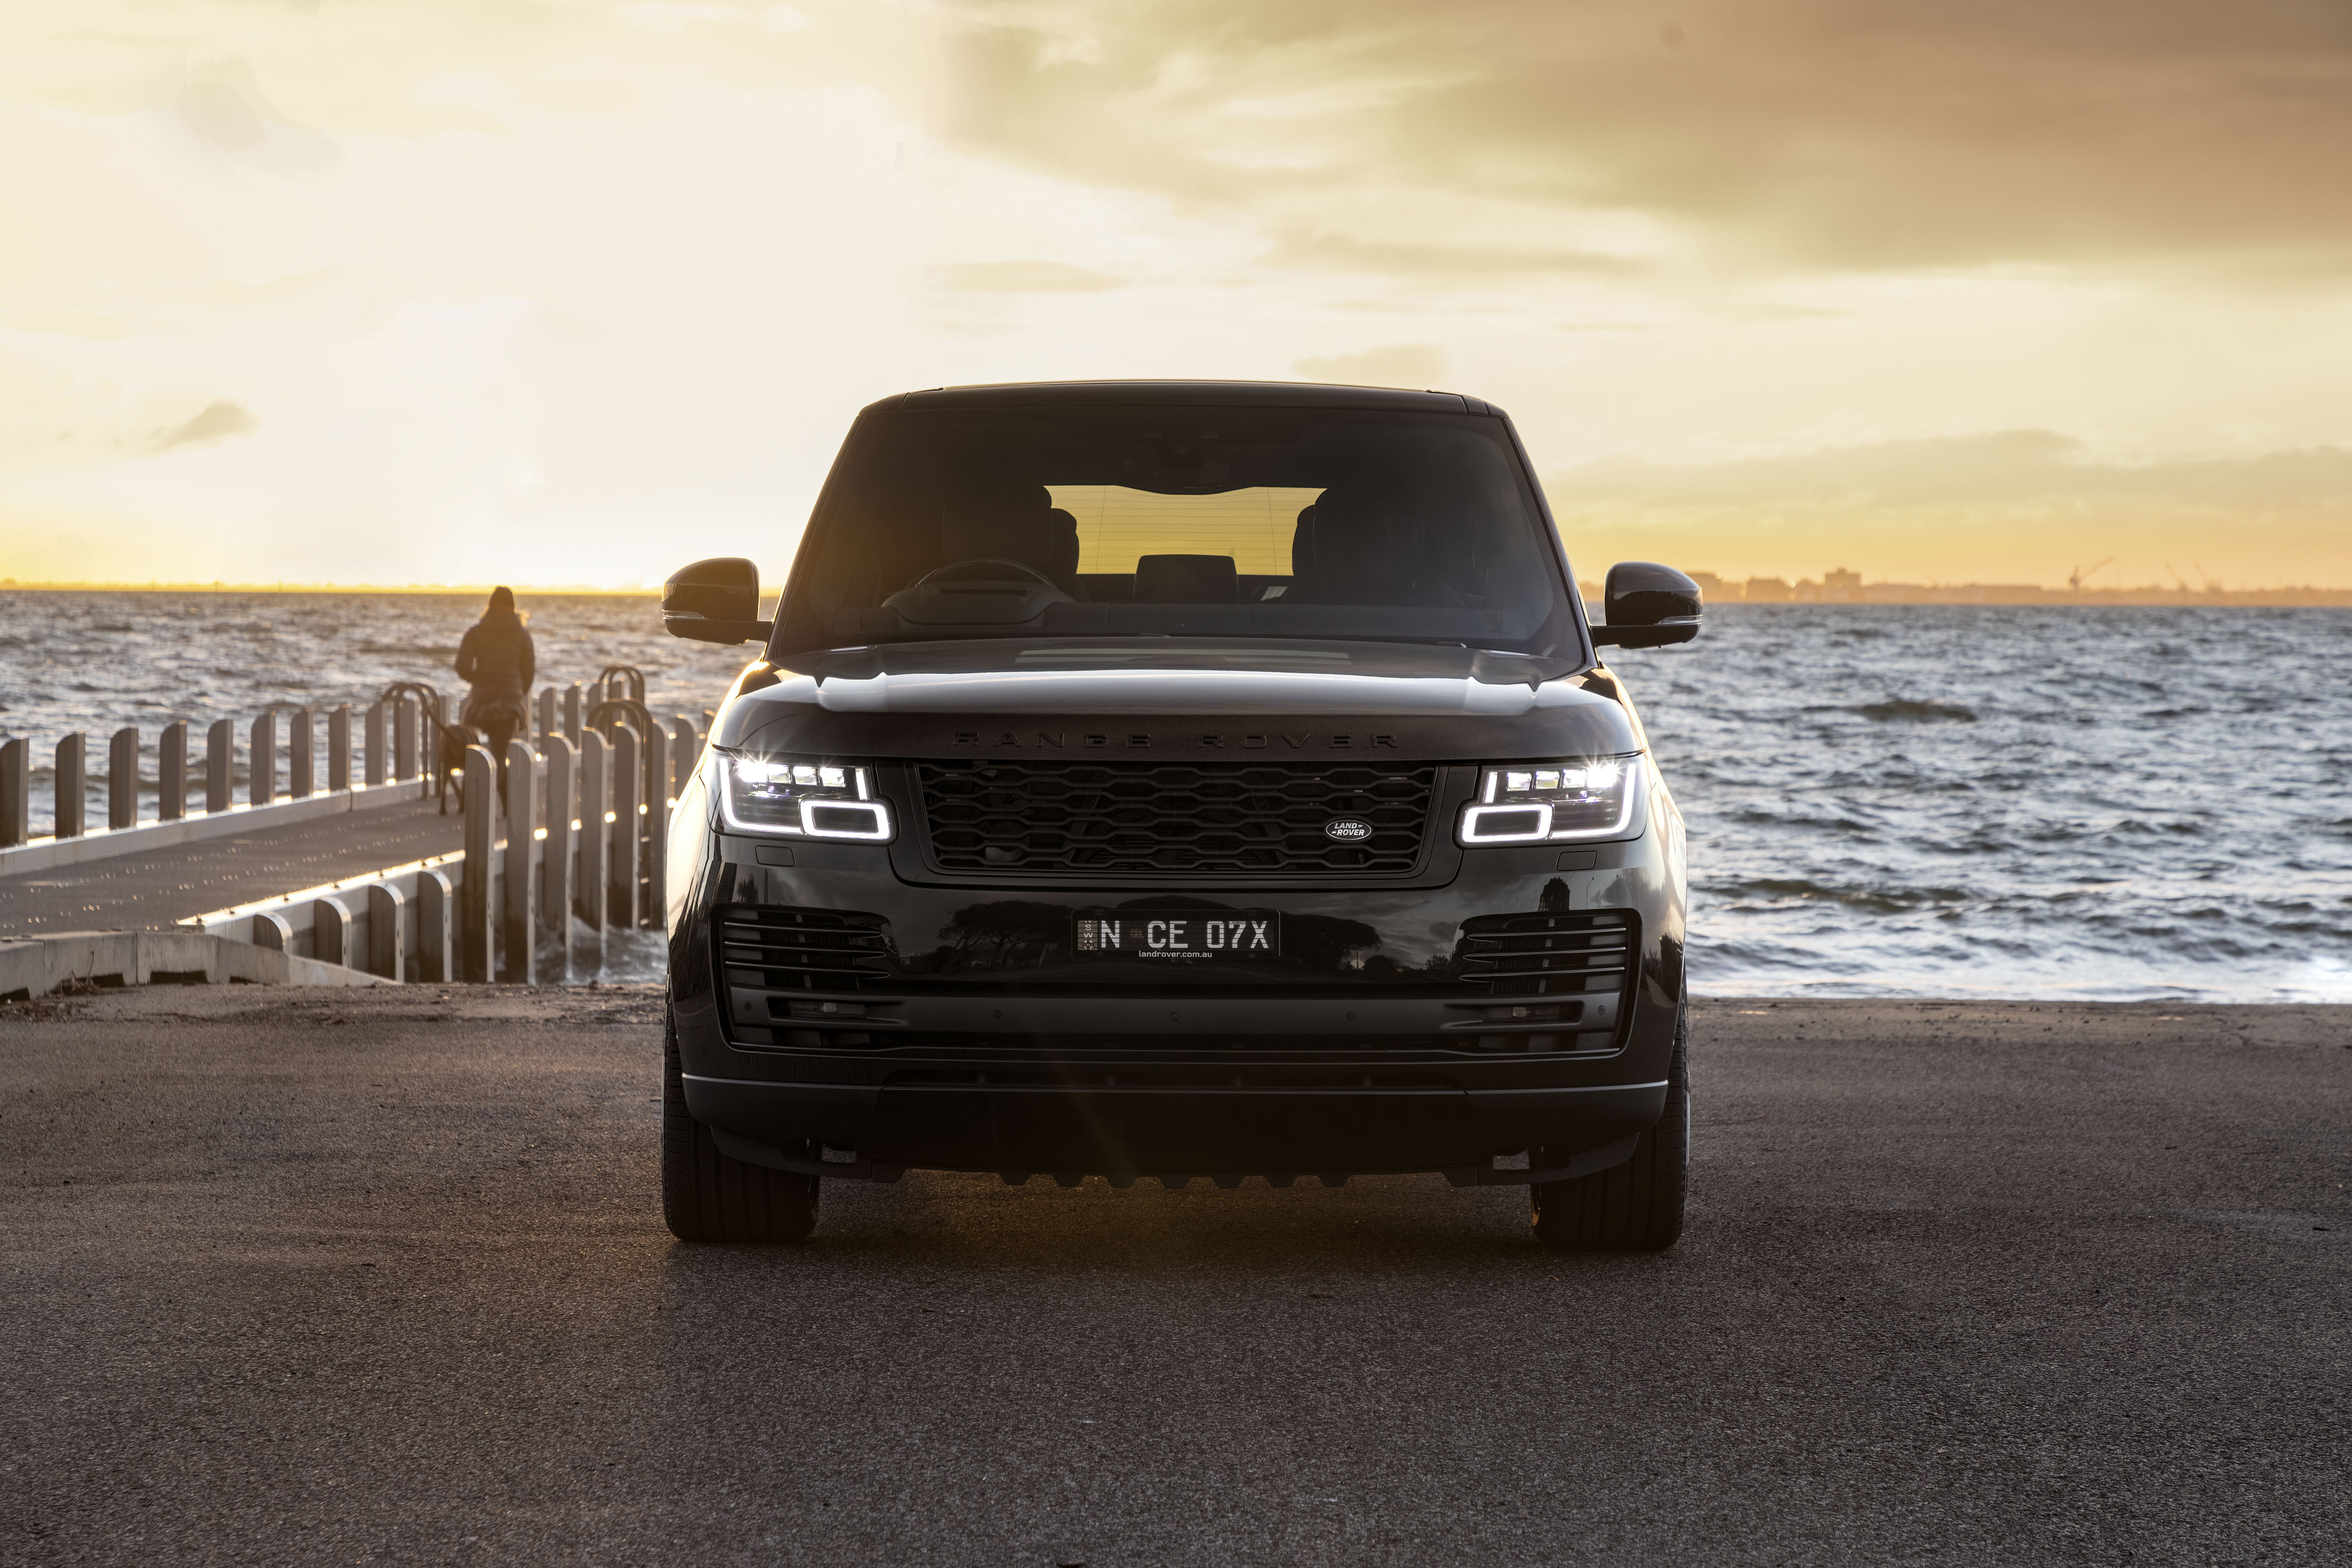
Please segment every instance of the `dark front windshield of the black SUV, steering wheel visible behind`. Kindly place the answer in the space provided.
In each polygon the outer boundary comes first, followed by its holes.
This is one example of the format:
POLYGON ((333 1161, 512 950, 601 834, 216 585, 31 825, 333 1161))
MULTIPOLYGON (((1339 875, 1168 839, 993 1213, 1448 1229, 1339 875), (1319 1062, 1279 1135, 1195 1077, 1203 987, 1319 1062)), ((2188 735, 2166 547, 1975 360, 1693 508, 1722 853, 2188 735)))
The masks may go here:
POLYGON ((809 524, 776 649, 1004 635, 1578 644, 1498 418, 868 414, 809 524))

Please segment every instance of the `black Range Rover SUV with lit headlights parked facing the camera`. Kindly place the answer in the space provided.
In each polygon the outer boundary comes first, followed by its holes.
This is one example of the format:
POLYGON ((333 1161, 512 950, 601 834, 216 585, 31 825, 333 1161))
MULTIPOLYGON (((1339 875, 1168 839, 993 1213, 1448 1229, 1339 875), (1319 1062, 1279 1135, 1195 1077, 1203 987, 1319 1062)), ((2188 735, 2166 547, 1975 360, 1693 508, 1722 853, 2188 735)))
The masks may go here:
POLYGON ((1451 393, 946 388, 858 414, 668 853, 663 1206, 790 1241, 821 1178, 1442 1171, 1663 1248, 1684 837, 1517 433, 1451 393))

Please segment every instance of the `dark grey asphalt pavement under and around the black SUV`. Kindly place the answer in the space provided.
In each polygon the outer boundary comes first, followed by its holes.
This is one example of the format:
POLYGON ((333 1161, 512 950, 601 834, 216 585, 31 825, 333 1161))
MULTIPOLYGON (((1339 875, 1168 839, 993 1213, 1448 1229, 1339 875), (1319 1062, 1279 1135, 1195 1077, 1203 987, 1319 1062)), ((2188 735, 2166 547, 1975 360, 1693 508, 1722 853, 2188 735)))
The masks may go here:
POLYGON ((1703 1001, 1696 1204, 656 1197, 644 990, 0 1009, 5 1563, 2343 1563, 2352 1009, 1703 1001))

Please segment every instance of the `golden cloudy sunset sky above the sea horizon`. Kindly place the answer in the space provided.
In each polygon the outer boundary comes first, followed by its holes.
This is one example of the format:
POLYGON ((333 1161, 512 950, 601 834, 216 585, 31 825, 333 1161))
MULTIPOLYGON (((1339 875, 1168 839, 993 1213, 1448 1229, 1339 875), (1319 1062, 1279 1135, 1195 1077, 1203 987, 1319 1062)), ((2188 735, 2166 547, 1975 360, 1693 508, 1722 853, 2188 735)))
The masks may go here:
POLYGON ((2345 0, 0 0, 0 578, 769 578, 858 407, 1444 388, 1583 576, 2352 585, 2345 0))

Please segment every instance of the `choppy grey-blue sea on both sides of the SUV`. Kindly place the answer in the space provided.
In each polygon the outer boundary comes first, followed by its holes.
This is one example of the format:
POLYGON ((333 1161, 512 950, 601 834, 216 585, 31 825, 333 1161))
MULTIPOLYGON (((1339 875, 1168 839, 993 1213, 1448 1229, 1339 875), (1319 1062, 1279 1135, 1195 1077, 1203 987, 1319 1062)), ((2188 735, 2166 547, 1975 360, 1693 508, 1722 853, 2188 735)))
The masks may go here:
MULTIPOLYGON (((717 703, 649 597, 520 595, 541 682, 717 703)), ((459 691, 477 595, 0 588, 0 731, 459 691)), ((2352 611, 1729 604, 1621 651, 1689 820, 1691 990, 2352 1001, 2352 611)), ((242 785, 240 785, 242 788, 242 785)), ((148 804, 153 813, 153 804, 148 804)), ((5 882, 0 882, 5 896, 5 882)))

